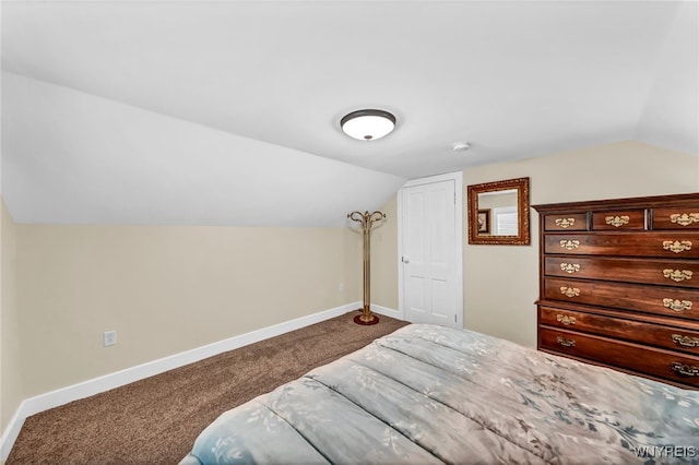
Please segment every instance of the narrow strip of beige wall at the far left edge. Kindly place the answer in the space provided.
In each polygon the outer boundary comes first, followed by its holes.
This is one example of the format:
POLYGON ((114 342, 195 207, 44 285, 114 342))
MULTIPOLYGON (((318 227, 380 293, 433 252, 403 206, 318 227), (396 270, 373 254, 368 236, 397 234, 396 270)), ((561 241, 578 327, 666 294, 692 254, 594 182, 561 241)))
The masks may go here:
POLYGON ((0 199, 1 300, 0 300, 0 431, 23 401, 20 371, 19 312, 15 300, 16 226, 0 199))

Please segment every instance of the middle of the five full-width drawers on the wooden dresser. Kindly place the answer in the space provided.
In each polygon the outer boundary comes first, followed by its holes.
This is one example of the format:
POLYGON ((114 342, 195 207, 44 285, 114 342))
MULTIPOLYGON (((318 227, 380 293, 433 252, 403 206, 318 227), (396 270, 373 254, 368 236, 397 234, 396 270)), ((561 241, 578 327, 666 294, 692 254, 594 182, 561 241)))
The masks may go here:
POLYGON ((699 290, 574 278, 544 278, 543 297, 572 303, 699 320, 699 290))

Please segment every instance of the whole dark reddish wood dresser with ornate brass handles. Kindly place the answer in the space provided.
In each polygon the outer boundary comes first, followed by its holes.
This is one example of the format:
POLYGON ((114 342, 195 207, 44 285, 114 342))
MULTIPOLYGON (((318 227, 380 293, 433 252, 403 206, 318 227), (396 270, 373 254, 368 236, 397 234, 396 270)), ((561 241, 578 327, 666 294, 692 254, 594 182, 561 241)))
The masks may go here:
POLYGON ((699 194, 534 208, 538 349, 699 389, 699 194))

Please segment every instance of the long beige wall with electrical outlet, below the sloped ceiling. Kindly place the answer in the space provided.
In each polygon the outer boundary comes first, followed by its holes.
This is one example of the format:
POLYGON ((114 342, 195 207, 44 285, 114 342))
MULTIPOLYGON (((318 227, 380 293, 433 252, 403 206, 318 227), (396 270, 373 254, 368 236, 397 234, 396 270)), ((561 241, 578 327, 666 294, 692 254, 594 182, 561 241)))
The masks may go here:
POLYGON ((16 233, 26 397, 362 298, 360 237, 348 228, 16 233), (103 347, 109 330, 118 344, 103 347))

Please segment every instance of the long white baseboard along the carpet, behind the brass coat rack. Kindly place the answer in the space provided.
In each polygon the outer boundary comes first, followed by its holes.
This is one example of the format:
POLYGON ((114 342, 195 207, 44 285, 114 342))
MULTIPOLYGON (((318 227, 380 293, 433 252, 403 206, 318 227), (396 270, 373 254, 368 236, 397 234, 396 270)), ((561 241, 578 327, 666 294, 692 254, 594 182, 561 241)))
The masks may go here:
MULTIPOLYGON (((183 367, 185 365, 193 363, 196 361, 213 357, 214 355, 247 346, 248 344, 279 336, 281 334, 288 333, 289 331, 299 330, 310 324, 320 323, 321 321, 340 317, 341 314, 356 310, 360 307, 362 302, 359 301, 335 307, 330 310, 297 318, 284 323, 274 324, 272 326, 263 327, 262 330, 252 331, 217 343, 209 344, 180 354, 175 354, 169 357, 150 361, 147 363, 127 368, 104 377, 84 381, 82 383, 51 391, 46 394, 40 394, 35 397, 29 397, 20 404, 20 407, 10 420, 10 424, 2 432, 2 437, 0 437, 0 463, 4 463, 4 461, 7 461, 10 455, 10 451, 14 445, 14 441, 16 441, 20 436, 24 420, 32 415, 68 404, 69 402, 90 397, 91 395, 99 394, 144 378, 153 377, 175 368, 183 367)), ((384 308, 382 307, 376 308, 375 306, 371 306, 371 308, 376 309, 377 313, 382 313, 382 311, 384 311, 384 308)), ((391 309, 386 309, 386 311, 388 311, 388 313, 383 314, 393 315, 395 313, 391 309)))

